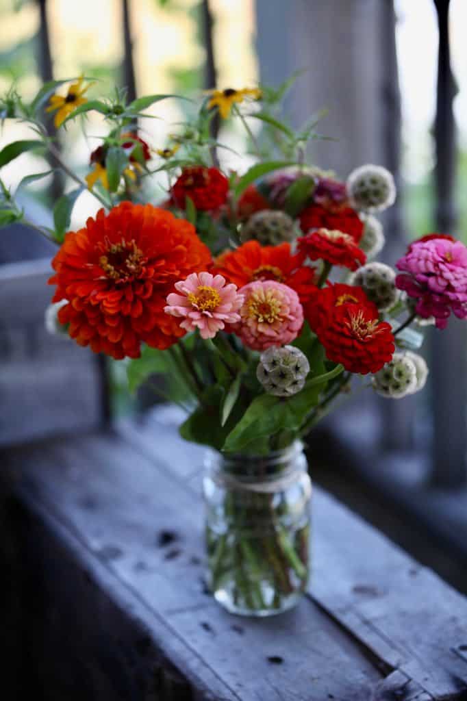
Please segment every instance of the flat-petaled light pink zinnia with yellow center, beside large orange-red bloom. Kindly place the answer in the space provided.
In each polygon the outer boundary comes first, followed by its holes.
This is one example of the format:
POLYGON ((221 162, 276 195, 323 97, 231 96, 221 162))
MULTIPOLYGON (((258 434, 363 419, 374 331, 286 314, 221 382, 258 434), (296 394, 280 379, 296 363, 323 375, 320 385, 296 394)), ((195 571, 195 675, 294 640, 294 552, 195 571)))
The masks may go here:
POLYGON ((183 317, 182 329, 199 329, 203 339, 213 339, 226 324, 240 320, 243 295, 238 294, 236 285, 226 285, 222 275, 191 273, 175 283, 175 290, 182 294, 169 294, 165 313, 183 317))

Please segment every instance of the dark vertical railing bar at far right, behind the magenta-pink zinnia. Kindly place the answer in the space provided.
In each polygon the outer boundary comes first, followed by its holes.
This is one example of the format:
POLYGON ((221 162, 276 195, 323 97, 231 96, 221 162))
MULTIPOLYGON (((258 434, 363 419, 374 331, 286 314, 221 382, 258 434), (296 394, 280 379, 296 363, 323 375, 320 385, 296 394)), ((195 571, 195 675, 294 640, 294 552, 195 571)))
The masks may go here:
MULTIPOLYGON (((449 0, 433 0, 438 13, 438 86, 435 116, 435 221, 440 233, 454 231, 456 207, 456 128, 453 100, 456 85, 449 49, 449 0)), ((459 487, 467 479, 467 329, 450 320, 443 332, 433 332, 434 445, 431 483, 459 487)))

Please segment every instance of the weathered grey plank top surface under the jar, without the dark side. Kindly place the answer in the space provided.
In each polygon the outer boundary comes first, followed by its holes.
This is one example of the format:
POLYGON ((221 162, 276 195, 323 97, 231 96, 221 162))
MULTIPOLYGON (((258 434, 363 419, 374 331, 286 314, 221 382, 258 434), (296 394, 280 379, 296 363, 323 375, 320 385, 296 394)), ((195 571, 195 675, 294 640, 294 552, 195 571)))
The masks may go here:
POLYGON ((25 498, 60 521, 69 547, 81 543, 79 558, 98 562, 177 637, 176 659, 165 638, 157 645, 194 688, 210 688, 215 674, 218 698, 245 701, 461 698, 466 601, 320 490, 311 598, 267 621, 224 613, 202 581, 192 477, 201 452, 175 438, 167 415, 134 437, 15 449, 8 466, 25 498))

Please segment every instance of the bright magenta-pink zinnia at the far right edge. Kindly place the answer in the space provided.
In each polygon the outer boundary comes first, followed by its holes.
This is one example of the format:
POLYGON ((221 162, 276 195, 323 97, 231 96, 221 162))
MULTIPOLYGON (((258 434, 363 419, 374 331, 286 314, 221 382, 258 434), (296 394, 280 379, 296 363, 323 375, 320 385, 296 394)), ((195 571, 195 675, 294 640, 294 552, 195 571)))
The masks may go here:
POLYGON ((446 327, 451 312, 467 318, 467 248, 461 241, 415 241, 397 267, 404 273, 395 284, 417 299, 419 316, 434 316, 438 329, 446 327))

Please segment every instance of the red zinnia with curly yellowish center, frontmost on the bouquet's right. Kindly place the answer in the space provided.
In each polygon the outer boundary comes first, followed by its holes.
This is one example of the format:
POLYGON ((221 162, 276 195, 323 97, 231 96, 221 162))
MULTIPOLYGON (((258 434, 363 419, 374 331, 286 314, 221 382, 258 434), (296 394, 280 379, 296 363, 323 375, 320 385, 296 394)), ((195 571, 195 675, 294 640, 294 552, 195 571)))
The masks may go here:
POLYGON ((379 322, 372 309, 362 304, 334 308, 329 324, 318 331, 326 357, 350 372, 378 372, 395 351, 391 325, 379 322))

